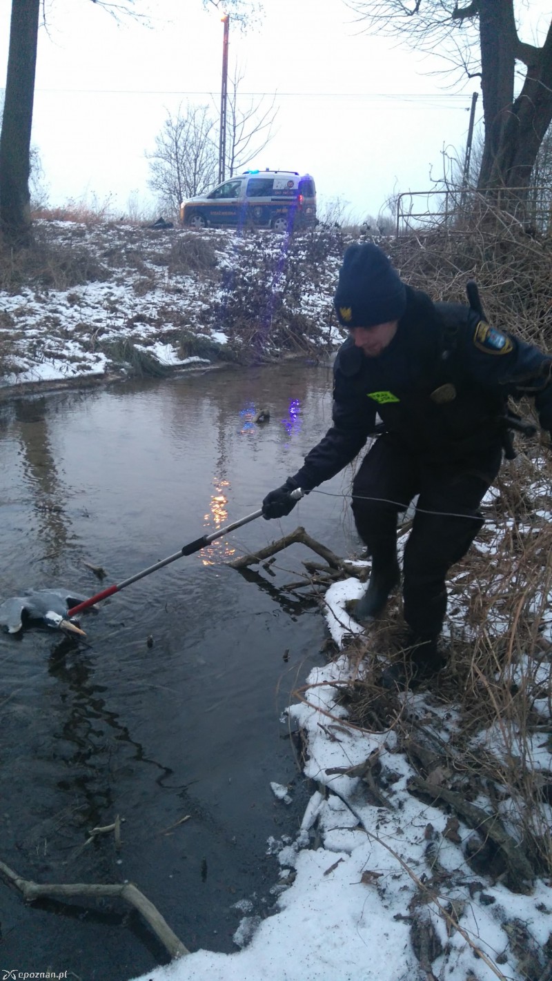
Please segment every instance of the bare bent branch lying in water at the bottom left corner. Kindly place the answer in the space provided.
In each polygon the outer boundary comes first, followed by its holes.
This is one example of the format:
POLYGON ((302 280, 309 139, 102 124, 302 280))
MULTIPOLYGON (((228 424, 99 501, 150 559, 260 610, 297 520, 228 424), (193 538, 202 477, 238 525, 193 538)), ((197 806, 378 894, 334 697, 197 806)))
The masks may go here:
POLYGON ((27 903, 32 903, 33 900, 45 899, 46 897, 67 899, 70 896, 111 896, 116 899, 125 900, 126 903, 134 906, 141 913, 158 940, 161 941, 172 957, 181 957, 184 954, 190 954, 190 951, 178 940, 176 933, 173 933, 171 927, 156 906, 150 903, 144 894, 140 893, 140 890, 136 889, 129 882, 122 883, 119 886, 91 885, 82 882, 68 883, 67 885, 56 883, 38 885, 38 883, 32 882, 29 879, 22 879, 21 875, 14 872, 3 861, 0 861, 0 875, 22 893, 27 903))

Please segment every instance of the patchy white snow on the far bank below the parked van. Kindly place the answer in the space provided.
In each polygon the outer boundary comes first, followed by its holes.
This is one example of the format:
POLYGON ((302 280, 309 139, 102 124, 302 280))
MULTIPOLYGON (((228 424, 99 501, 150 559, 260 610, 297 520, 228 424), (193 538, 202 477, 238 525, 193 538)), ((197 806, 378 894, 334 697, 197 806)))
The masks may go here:
POLYGON ((37 257, 25 285, 6 274, 0 289, 0 391, 125 376, 122 344, 165 368, 203 367, 212 357, 190 354, 183 338, 211 344, 214 357, 227 347, 220 319, 238 280, 252 292, 253 305, 259 283, 266 294, 285 292, 289 316, 314 325, 315 345, 340 342, 328 324, 338 255, 314 288, 300 238, 270 230, 159 231, 76 222, 37 222, 35 234, 37 257))

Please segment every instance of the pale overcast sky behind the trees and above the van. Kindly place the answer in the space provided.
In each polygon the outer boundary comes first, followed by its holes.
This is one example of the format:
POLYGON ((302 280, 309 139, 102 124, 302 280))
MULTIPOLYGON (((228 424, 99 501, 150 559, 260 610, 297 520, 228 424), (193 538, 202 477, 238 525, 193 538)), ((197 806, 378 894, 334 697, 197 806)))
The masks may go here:
MULTIPOLYGON (((122 214, 153 209, 145 152, 167 110, 189 100, 218 113, 220 13, 201 0, 135 8, 149 24, 118 23, 90 0, 46 0, 32 140, 51 204, 110 198, 122 214)), ((10 9, 0 0, 3 78, 10 9)), ((443 150, 463 156, 477 79, 451 89, 428 74, 440 63, 362 32, 343 0, 264 0, 264 9, 245 36, 230 21, 229 66, 244 72, 244 100, 276 93, 278 107, 273 140, 248 166, 310 173, 323 208, 339 198, 362 220, 392 193, 427 190, 443 150)))

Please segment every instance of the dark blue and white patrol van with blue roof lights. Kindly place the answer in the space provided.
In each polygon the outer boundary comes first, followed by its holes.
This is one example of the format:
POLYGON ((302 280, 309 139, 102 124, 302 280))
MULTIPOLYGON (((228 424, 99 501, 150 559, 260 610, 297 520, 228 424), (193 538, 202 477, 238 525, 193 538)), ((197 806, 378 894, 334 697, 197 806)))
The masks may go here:
POLYGON ((275 232, 317 224, 315 181, 297 171, 245 171, 209 194, 180 205, 180 222, 192 229, 208 225, 270 228, 275 232))

